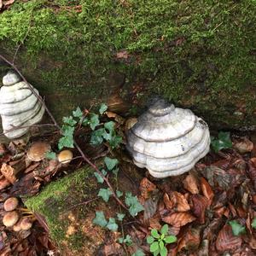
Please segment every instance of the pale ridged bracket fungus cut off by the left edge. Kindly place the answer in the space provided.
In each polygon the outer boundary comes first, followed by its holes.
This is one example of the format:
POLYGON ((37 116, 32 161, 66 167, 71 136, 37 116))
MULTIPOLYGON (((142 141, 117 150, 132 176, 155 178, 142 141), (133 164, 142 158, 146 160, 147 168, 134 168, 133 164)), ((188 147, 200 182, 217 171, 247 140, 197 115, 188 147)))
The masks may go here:
MULTIPOLYGON (((34 90, 38 94, 38 90, 34 90)), ((6 137, 14 139, 26 134, 31 125, 41 121, 44 110, 42 102, 33 94, 29 84, 22 81, 17 73, 9 71, 3 77, 0 114, 6 137)))

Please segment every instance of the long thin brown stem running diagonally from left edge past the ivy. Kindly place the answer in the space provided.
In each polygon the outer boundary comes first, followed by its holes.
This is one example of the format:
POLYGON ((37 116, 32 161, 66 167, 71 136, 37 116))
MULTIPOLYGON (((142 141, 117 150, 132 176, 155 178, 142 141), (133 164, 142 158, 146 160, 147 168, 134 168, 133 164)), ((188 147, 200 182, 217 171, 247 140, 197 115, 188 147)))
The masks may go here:
MULTIPOLYGON (((58 125, 57 121, 55 120, 55 117, 53 116, 53 114, 49 111, 49 108, 46 106, 43 98, 41 96, 39 96, 35 89, 32 87, 31 84, 29 84, 27 82, 27 80, 25 79, 25 77, 22 75, 22 73, 20 73, 20 70, 18 69, 18 67, 15 66, 14 63, 12 63, 11 61, 8 61, 3 55, 0 55, 0 58, 5 61, 6 63, 9 64, 9 66, 13 67, 15 69, 15 71, 20 75, 20 78, 24 80, 24 82, 28 85, 29 89, 32 90, 32 93, 34 96, 36 96, 38 98, 38 101, 42 103, 42 105, 45 108, 45 111, 49 114, 50 119, 53 121, 54 125, 61 131, 61 126, 58 125)), ((93 169, 95 169, 95 171, 103 178, 103 180, 108 184, 108 188, 110 189, 110 191, 112 192, 112 195, 115 199, 115 201, 117 201, 119 203, 120 206, 122 206, 123 208, 125 208, 125 210, 128 210, 127 207, 125 207, 124 203, 122 201, 119 200, 118 196, 115 194, 113 187, 111 185, 111 183, 109 183, 108 178, 105 177, 102 172, 97 168, 97 166, 92 163, 89 158, 84 154, 83 150, 79 147, 79 144, 76 143, 76 141, 74 140, 73 142, 75 148, 77 148, 79 150, 79 153, 81 154, 81 156, 83 157, 84 161, 86 163, 88 163, 93 169)))

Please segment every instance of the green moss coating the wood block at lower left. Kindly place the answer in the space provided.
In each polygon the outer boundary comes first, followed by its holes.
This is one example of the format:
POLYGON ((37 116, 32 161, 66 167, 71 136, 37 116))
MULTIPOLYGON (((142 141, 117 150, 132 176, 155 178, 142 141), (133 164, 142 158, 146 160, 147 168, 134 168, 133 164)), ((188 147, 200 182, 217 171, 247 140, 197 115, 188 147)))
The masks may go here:
MULTIPOLYGON (((88 200, 95 192, 96 184, 90 182, 92 173, 91 168, 84 167, 72 175, 49 183, 39 195, 26 200, 26 207, 46 218, 50 236, 59 245, 67 241, 71 247, 79 248, 83 241, 80 239, 80 230, 74 236, 66 236, 70 221, 65 214, 69 212, 70 207, 88 200)), ((85 214, 86 208, 82 209, 85 214)), ((79 210, 79 207, 76 207, 76 210, 79 210)))

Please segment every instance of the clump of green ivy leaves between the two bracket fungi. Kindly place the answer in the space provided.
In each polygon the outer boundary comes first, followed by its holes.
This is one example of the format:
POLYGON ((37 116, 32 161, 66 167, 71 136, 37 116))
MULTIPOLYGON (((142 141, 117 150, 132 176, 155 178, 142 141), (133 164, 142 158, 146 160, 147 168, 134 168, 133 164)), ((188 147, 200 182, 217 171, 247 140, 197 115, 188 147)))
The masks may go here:
POLYGON ((100 123, 100 116, 108 109, 107 105, 102 104, 98 113, 89 111, 82 112, 78 107, 69 117, 63 117, 63 125, 61 127, 62 137, 59 140, 58 148, 73 148, 73 133, 78 126, 89 126, 91 129, 90 143, 98 145, 106 141, 111 148, 117 148, 122 141, 114 129, 113 121, 100 123), (99 127, 97 129, 97 127, 99 127))

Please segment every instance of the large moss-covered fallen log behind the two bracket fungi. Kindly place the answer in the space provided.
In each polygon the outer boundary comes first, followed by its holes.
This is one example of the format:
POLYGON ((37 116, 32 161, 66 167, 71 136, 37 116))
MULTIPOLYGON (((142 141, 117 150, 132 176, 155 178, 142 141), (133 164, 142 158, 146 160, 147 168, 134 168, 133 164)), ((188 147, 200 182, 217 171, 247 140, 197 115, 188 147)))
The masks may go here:
POLYGON ((120 89, 236 129, 256 125, 255 26, 254 0, 15 1, 0 52, 22 43, 16 63, 58 117, 120 89))

